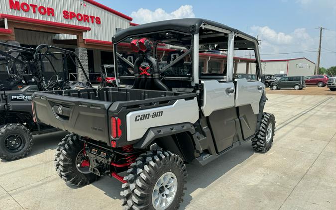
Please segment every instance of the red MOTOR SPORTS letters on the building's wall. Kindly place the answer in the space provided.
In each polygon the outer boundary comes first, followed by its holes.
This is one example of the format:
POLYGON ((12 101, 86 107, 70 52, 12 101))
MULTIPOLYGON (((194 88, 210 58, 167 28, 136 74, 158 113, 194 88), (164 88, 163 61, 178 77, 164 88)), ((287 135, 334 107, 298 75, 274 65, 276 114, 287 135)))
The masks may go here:
MULTIPOLYGON (((24 12, 32 12, 34 14, 39 13, 41 15, 47 15, 47 16, 55 16, 55 9, 52 7, 46 7, 43 5, 37 5, 33 3, 26 3, 26 2, 19 2, 18 0, 9 0, 9 8, 18 10, 18 11, 24 11, 24 12)), ((88 22, 88 23, 96 23, 101 24, 101 18, 98 16, 83 14, 83 13, 77 13, 69 10, 63 10, 62 11, 63 18, 65 19, 77 19, 80 22, 88 22)))

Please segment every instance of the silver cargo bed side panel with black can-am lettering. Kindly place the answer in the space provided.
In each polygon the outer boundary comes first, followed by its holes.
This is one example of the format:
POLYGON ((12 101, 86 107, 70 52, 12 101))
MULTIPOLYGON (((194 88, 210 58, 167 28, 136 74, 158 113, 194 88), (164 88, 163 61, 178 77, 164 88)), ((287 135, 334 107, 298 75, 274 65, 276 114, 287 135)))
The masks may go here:
POLYGON ((173 105, 167 105, 157 108, 149 108, 139 111, 131 111, 126 115, 127 141, 133 141, 141 138, 149 128, 162 125, 177 124, 182 122, 195 123, 198 118, 197 99, 193 100, 177 100, 173 105), (144 120, 138 120, 139 115, 150 114, 154 112, 162 112, 162 116, 144 120))

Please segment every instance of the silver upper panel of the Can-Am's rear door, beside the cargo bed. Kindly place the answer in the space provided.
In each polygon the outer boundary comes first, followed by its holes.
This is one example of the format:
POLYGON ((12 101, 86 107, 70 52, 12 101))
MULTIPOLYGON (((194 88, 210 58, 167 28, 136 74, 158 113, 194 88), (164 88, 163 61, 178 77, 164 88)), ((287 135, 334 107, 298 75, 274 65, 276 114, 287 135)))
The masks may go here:
POLYGON ((217 80, 201 82, 204 89, 204 101, 201 109, 205 116, 209 116, 213 111, 234 106, 234 93, 228 93, 228 90, 234 90, 233 82, 220 83, 217 80))

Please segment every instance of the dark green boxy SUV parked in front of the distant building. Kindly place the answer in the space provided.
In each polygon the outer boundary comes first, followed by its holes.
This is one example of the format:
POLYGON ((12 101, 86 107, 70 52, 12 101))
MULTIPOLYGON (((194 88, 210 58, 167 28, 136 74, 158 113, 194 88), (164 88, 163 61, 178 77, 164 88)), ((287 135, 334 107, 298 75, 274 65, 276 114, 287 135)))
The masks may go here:
POLYGON ((301 90, 306 87, 304 76, 282 77, 280 80, 271 84, 270 88, 273 90, 281 88, 294 88, 301 90))

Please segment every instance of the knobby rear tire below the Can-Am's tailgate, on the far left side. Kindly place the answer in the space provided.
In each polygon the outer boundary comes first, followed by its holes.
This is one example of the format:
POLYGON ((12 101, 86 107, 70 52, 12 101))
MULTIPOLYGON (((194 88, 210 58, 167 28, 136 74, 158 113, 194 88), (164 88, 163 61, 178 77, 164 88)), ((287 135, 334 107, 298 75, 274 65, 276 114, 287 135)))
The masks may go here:
POLYGON ((84 142, 78 136, 70 133, 58 144, 55 153, 55 169, 57 174, 67 183, 78 187, 88 185, 98 179, 89 167, 80 167, 78 158, 84 157, 84 142), (85 170, 84 170, 85 169, 85 170))

